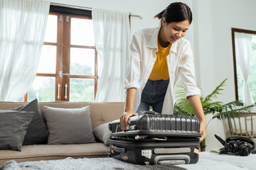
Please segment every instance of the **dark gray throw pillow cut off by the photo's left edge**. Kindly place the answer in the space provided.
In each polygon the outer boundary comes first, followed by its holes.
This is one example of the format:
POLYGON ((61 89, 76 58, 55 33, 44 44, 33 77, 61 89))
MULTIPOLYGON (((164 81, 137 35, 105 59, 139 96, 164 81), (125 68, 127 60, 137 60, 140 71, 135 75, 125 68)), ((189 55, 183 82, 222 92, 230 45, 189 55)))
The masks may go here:
POLYGON ((0 110, 0 149, 21 151, 34 112, 0 110))

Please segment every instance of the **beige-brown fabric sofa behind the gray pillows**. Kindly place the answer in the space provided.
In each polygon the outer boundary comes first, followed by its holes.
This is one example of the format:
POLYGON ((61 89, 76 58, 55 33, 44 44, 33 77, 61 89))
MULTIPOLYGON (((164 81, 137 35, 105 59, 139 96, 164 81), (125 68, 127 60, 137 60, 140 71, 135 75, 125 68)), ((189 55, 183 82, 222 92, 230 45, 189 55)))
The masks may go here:
MULTIPOLYGON (((24 105, 24 102, 0 102, 0 110, 7 110, 24 105)), ((86 102, 46 102, 39 103, 43 120, 46 121, 43 106, 53 108, 82 108, 90 106, 90 118, 92 129, 103 123, 119 119, 124 111, 124 103, 86 103, 86 102)), ((64 159, 66 157, 107 157, 110 147, 103 142, 70 144, 70 145, 23 145, 21 152, 14 150, 0 150, 0 166, 14 159, 16 162, 28 162, 50 159, 64 159)))

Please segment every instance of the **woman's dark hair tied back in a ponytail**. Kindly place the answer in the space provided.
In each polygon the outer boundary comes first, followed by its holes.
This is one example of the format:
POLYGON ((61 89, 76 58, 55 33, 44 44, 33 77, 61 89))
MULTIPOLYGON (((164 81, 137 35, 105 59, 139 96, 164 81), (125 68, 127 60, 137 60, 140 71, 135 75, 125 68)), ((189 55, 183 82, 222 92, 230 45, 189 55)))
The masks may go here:
POLYGON ((188 20, 189 23, 192 22, 192 12, 191 9, 181 2, 174 2, 171 3, 169 6, 164 9, 164 11, 161 11, 161 13, 154 16, 154 18, 162 19, 166 18, 166 23, 171 22, 180 22, 188 20))

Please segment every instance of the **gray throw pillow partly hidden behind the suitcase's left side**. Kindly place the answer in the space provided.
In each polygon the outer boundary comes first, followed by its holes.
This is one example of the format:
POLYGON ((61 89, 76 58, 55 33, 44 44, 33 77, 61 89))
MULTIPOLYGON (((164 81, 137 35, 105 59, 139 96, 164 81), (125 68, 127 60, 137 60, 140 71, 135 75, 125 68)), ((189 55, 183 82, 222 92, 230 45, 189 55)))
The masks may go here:
POLYGON ((92 132, 95 137, 101 142, 104 142, 105 145, 110 146, 110 135, 111 131, 108 128, 109 123, 104 123, 102 125, 97 126, 92 132))

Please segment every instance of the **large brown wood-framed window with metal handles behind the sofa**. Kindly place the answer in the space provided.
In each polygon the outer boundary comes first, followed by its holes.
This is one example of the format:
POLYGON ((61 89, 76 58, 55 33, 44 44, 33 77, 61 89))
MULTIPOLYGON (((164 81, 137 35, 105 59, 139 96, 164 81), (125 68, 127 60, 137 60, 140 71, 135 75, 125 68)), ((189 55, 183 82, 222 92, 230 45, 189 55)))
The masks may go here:
POLYGON ((50 6, 36 78, 24 101, 94 101, 97 52, 91 11, 50 6))

